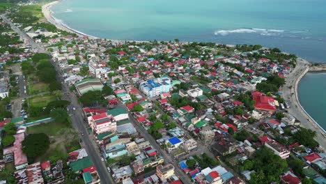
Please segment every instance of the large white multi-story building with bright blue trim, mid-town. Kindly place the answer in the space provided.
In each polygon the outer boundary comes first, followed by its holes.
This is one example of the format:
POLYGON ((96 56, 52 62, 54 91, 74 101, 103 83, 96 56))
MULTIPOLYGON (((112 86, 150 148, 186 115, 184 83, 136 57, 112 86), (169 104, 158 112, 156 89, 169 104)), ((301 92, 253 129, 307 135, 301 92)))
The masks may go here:
POLYGON ((171 79, 169 77, 160 77, 156 79, 148 79, 140 83, 140 90, 148 97, 159 96, 162 93, 170 91, 171 79))

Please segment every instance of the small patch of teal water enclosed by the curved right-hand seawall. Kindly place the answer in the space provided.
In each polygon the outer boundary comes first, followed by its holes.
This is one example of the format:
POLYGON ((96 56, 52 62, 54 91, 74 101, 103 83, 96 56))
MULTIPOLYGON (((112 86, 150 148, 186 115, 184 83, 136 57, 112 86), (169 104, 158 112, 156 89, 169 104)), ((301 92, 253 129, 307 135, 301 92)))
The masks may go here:
POLYGON ((298 87, 299 100, 311 117, 326 130, 326 73, 307 73, 298 87))

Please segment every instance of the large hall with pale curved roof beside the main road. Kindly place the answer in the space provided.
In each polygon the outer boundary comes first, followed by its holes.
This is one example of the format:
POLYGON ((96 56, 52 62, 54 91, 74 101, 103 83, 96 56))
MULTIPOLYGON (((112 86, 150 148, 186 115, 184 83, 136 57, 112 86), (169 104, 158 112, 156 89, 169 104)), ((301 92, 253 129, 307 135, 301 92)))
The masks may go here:
POLYGON ((79 95, 84 95, 88 91, 102 91, 104 86, 100 79, 84 79, 81 82, 77 82, 75 87, 79 95))

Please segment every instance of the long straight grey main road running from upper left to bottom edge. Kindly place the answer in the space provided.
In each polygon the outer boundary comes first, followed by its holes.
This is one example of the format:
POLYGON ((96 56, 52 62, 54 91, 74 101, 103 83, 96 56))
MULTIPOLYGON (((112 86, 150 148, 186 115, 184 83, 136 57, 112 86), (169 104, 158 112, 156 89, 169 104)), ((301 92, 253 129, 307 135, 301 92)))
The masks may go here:
MULTIPOLYGON (((31 45, 31 48, 33 49, 34 52, 50 54, 49 52, 46 51, 46 49, 44 47, 36 44, 32 38, 27 36, 27 34, 24 33, 23 31, 21 31, 19 28, 17 28, 17 26, 15 26, 13 24, 13 22, 8 20, 8 18, 6 17, 5 14, 0 15, 0 17, 7 24, 10 25, 10 27, 11 27, 11 29, 13 29, 13 31, 15 31, 18 35, 20 35, 24 40, 28 40, 29 45, 31 45)), ((52 60, 50 60, 50 62, 56 68, 58 80, 60 82, 63 82, 63 77, 61 76, 59 66, 52 60)), ((62 91, 64 94, 69 93, 69 88, 64 83, 63 83, 62 91)), ((83 141, 84 148, 86 149, 89 157, 91 157, 91 160, 93 161, 96 169, 98 170, 98 175, 100 176, 101 183, 104 183, 104 184, 115 183, 114 180, 112 179, 111 175, 109 174, 109 171, 107 171, 107 167, 105 166, 105 163, 102 162, 102 160, 100 159, 100 154, 99 154, 99 151, 97 150, 96 144, 94 143, 94 141, 91 140, 90 135, 88 135, 88 133, 87 133, 86 127, 83 123, 84 119, 82 116, 82 109, 77 101, 77 98, 75 97, 75 95, 70 95, 70 96, 67 96, 65 99, 69 100, 71 102, 70 112, 72 112, 72 114, 70 117, 72 119, 72 123, 73 123, 74 127, 79 130, 81 135, 83 135, 83 136, 81 136, 81 140, 83 141), (74 107, 75 107, 75 111, 72 109, 74 107)))

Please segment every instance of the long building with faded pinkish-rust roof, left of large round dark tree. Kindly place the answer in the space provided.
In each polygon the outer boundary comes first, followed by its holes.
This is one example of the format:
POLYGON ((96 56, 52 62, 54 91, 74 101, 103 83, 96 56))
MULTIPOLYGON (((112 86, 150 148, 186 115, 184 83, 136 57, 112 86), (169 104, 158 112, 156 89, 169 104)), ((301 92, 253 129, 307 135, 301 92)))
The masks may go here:
POLYGON ((17 170, 24 169, 28 164, 27 156, 22 151, 22 141, 25 139, 25 133, 16 134, 14 137, 13 146, 3 149, 3 160, 6 163, 14 161, 17 170))

